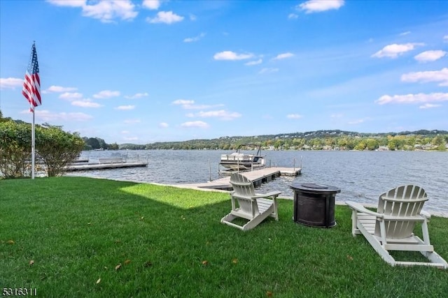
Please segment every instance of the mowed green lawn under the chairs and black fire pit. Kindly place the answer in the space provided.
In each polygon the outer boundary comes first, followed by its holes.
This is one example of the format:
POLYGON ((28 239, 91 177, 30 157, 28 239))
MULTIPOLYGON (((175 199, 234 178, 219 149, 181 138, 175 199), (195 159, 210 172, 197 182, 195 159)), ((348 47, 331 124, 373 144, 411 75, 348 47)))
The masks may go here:
MULTIPOLYGON (((337 226, 279 221, 248 232, 223 225, 226 193, 52 177, 0 180, 0 288, 39 297, 444 297, 448 270, 391 267, 351 212, 337 226)), ((448 259, 448 219, 431 218, 448 259)), ((1 289, 2 290, 2 289, 1 289)))

